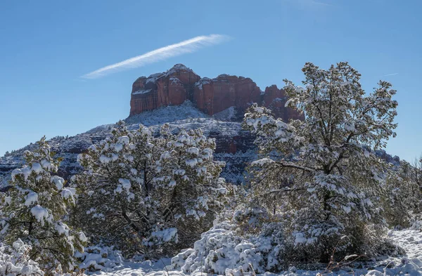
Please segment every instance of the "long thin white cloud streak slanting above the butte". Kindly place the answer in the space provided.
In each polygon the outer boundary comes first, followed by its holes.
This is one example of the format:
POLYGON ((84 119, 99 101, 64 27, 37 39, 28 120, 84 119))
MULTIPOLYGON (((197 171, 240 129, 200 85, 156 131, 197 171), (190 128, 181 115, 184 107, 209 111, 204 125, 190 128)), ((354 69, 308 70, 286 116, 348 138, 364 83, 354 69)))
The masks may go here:
POLYGON ((102 67, 93 72, 89 72, 88 74, 84 74, 82 78, 96 79, 120 70, 137 68, 147 64, 156 63, 177 55, 183 55, 184 53, 193 53, 198 51, 200 48, 220 44, 228 39, 230 39, 230 37, 223 34, 210 34, 207 36, 193 37, 193 39, 188 39, 177 44, 158 48, 148 53, 144 53, 143 55, 123 60, 120 63, 102 67))

